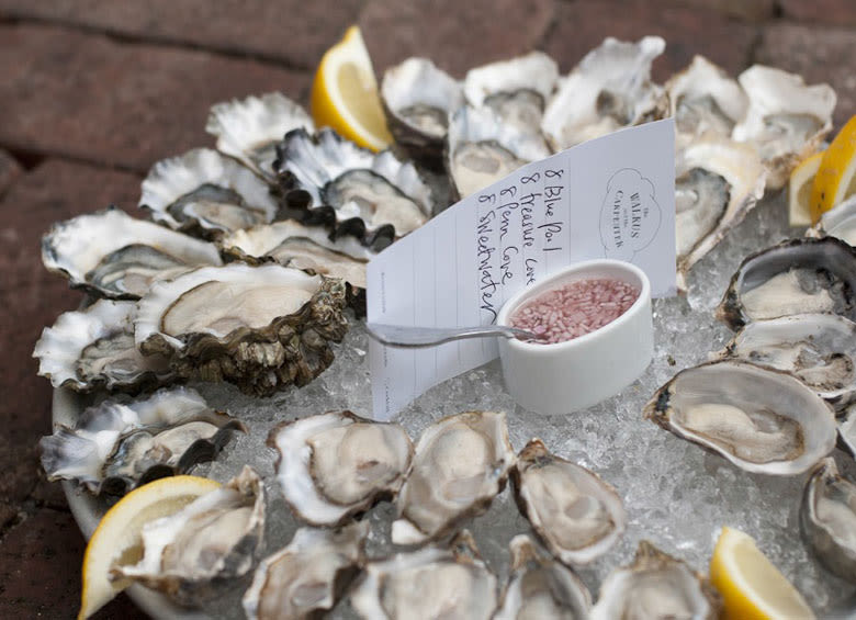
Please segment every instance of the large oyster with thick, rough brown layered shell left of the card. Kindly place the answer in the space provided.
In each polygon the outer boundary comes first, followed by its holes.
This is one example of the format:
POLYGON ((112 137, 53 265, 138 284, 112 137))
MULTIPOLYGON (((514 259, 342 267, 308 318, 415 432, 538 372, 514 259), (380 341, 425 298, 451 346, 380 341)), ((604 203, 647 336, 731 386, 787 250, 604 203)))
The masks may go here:
POLYGON ((232 263, 158 282, 134 322, 145 354, 171 356, 181 376, 269 395, 305 385, 333 362, 348 328, 345 284, 279 264, 232 263))

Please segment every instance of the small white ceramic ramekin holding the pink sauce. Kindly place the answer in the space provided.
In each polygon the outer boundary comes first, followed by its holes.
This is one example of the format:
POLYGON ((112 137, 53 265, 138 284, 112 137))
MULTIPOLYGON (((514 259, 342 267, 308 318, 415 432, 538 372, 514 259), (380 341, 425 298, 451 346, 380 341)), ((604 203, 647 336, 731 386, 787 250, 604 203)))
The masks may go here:
POLYGON ((566 342, 537 345, 500 338, 505 385, 517 403, 542 414, 568 414, 612 396, 647 368, 654 353, 651 282, 629 262, 598 259, 572 264, 508 300, 497 324, 532 297, 574 280, 611 278, 637 286, 639 298, 600 329, 566 342))

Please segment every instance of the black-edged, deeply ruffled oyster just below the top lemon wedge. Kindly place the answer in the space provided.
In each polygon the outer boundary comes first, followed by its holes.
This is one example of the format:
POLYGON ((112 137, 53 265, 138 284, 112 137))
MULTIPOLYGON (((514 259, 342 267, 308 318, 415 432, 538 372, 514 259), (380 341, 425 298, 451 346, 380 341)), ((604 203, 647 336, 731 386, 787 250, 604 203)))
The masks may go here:
POLYGON ((289 132, 277 146, 274 167, 292 190, 285 195, 286 206, 302 200, 290 198, 294 189, 307 192, 304 222, 326 222, 337 237, 352 234, 367 245, 391 240, 425 224, 433 211, 431 190, 413 164, 398 160, 391 150, 374 154, 360 148, 333 129, 315 136, 305 129, 289 132))

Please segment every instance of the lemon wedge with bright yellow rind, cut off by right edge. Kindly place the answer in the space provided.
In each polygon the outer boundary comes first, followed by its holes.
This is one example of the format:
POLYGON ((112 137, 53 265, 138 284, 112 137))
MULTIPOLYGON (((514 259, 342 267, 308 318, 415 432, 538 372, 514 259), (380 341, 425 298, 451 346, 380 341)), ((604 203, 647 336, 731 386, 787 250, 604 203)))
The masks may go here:
POLYGON ((823 154, 811 187, 811 221, 856 193, 856 116, 842 127, 823 154))

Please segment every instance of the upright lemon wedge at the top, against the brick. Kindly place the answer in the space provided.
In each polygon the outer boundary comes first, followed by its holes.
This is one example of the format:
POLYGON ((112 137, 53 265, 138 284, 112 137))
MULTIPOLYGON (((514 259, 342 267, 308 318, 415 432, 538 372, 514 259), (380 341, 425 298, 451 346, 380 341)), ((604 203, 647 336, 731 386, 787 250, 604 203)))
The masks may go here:
POLYGON ((372 150, 392 143, 378 94, 378 80, 358 26, 322 58, 312 84, 312 117, 318 127, 328 126, 372 150))

